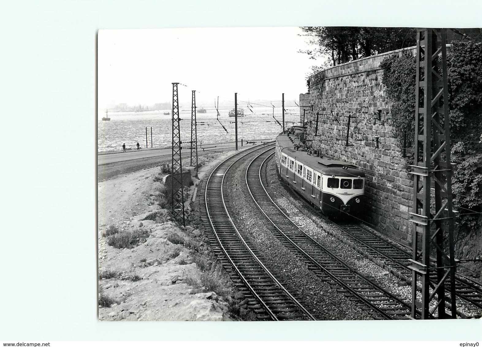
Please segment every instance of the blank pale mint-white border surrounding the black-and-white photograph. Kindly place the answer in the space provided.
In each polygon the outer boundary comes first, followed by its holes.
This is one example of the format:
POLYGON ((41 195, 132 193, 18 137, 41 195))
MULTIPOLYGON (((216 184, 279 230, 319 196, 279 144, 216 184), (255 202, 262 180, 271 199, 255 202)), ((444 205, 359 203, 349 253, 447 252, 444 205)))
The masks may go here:
POLYGON ((102 28, 481 27, 481 10, 428 0, 2 2, 0 339, 480 341, 475 320, 98 322, 95 59, 102 28))

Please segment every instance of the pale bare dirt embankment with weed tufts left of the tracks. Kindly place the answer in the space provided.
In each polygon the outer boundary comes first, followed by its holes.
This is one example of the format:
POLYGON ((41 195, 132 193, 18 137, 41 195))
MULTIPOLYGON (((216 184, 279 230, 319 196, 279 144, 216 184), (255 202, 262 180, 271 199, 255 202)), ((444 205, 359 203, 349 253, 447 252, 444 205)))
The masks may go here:
POLYGON ((98 183, 99 319, 249 318, 246 300, 203 236, 199 207, 192 203, 199 180, 187 188, 186 227, 178 227, 158 204, 165 175, 160 171, 131 162, 107 173, 116 178, 98 183))

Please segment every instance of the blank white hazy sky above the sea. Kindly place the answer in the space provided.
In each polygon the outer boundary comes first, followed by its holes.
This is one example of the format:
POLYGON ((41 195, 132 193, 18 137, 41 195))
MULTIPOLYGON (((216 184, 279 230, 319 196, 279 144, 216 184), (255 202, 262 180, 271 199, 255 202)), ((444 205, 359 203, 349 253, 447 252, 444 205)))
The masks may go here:
POLYGON ((100 30, 98 35, 98 107, 118 103, 150 105, 172 100, 214 106, 239 100, 298 100, 306 76, 322 61, 308 59, 298 27, 181 28, 100 30))

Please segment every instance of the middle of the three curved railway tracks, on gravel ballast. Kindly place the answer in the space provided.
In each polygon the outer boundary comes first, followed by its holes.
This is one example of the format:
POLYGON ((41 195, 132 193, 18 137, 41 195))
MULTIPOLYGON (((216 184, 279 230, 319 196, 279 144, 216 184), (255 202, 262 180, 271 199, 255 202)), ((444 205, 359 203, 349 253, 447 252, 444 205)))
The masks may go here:
POLYGON ((314 273, 327 280, 350 300, 362 303, 367 309, 372 310, 375 318, 409 318, 410 303, 402 301, 396 295, 381 288, 373 280, 363 276, 328 251, 300 229, 270 198, 262 183, 261 168, 273 154, 274 151, 271 149, 258 155, 248 166, 245 175, 249 194, 270 223, 268 229, 314 273))

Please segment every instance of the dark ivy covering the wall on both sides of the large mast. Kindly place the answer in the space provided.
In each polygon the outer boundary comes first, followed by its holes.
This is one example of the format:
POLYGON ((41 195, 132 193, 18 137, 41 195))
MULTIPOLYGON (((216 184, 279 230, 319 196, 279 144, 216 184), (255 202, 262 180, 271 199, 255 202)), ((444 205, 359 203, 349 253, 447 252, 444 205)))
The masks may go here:
MULTIPOLYGON (((411 147, 415 131, 415 57, 411 53, 385 58, 383 84, 391 103, 394 134, 400 147, 411 147), (407 133, 406 143, 403 134, 407 133)), ((482 43, 452 41, 447 54, 451 161, 454 208, 460 227, 479 227, 482 206, 482 43)), ((413 163, 407 156, 406 168, 413 163)))

